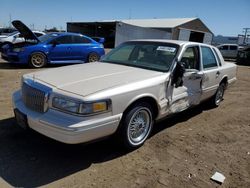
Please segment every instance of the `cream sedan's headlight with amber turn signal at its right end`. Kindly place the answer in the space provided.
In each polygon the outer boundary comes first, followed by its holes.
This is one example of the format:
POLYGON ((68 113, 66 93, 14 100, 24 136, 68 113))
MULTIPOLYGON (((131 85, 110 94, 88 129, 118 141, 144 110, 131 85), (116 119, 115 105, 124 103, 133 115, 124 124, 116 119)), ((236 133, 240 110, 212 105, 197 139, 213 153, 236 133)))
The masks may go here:
POLYGON ((109 111, 110 103, 110 100, 80 102, 62 97, 54 97, 52 100, 54 108, 80 115, 91 115, 109 111))

